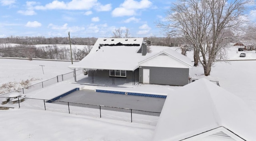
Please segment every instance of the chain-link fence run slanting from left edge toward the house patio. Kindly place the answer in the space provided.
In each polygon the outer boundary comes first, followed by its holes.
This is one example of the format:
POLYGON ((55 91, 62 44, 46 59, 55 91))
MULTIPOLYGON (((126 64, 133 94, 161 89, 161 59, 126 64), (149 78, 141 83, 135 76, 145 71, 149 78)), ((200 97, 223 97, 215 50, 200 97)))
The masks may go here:
MULTIPOLYGON (((81 73, 83 73, 82 69, 76 70, 76 75, 79 75, 81 73)), ((24 87, 24 88, 21 88, 21 89, 17 89, 15 91, 10 91, 8 93, 1 94, 1 96, 4 96, 6 94, 11 94, 11 93, 16 93, 16 92, 23 93, 23 94, 30 93, 32 91, 42 89, 42 88, 47 87, 49 85, 52 85, 52 84, 55 84, 55 83, 58 83, 58 82, 61 82, 61 81, 64 81, 64 80, 68 80, 68 79, 70 79, 74 76, 75 76, 74 71, 72 71, 70 73, 65 73, 65 74, 62 74, 62 75, 57 75, 56 77, 53 77, 51 79, 42 81, 40 83, 36 83, 36 84, 30 85, 28 87, 24 87)))

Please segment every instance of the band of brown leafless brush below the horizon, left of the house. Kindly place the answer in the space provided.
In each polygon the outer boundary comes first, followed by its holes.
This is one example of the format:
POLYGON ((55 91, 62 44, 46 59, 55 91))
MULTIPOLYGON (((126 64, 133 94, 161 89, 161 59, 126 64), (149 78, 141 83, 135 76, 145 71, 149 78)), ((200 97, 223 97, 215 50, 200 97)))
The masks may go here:
MULTIPOLYGON (((92 49, 91 45, 85 45, 84 48, 72 48, 73 60, 82 60, 92 49)), ((15 45, 0 44, 0 57, 17 57, 17 58, 41 58, 54 60, 71 60, 70 48, 56 45, 48 45, 36 48, 35 45, 15 45)))

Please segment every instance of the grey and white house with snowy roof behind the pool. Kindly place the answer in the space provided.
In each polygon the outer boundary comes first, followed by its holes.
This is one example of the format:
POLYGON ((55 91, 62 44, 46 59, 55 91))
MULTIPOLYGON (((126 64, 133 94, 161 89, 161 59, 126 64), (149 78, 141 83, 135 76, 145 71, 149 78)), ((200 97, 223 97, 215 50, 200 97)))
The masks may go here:
POLYGON ((98 38, 91 52, 70 68, 84 68, 88 76, 127 79, 135 83, 186 85, 191 60, 166 49, 147 52, 144 38, 98 38))

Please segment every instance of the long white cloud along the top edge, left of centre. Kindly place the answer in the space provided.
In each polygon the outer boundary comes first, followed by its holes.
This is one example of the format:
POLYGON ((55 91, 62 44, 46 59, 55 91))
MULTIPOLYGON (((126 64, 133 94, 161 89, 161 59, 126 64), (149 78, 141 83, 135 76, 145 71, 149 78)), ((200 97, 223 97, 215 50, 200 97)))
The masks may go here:
POLYGON ((108 10, 110 4, 102 5, 97 0, 72 0, 70 2, 63 2, 54 0, 45 6, 35 6, 36 10, 47 10, 47 9, 66 9, 66 10, 89 10, 94 6, 99 6, 102 10, 108 10))

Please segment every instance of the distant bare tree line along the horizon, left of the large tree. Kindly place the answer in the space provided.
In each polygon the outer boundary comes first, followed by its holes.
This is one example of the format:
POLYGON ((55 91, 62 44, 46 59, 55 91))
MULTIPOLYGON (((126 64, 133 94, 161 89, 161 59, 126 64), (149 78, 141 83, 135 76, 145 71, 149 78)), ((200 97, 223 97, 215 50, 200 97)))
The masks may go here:
MULTIPOLYGON (((131 38, 129 31, 126 29, 124 36, 122 35, 122 30, 117 29, 113 32, 113 38, 131 38), (119 36, 117 36, 119 35, 119 36)), ((151 45, 153 46, 178 46, 182 44, 182 39, 180 38, 172 38, 169 35, 164 35, 166 37, 144 37, 145 40, 151 41, 151 45)), ((81 38, 81 37, 73 37, 71 38, 72 44, 76 45, 94 45, 97 38, 81 38)), ((49 37, 46 38, 44 36, 37 37, 28 37, 28 36, 10 36, 7 38, 0 38, 0 44, 23 44, 23 45, 36 45, 36 44, 70 44, 67 37, 49 37)))

